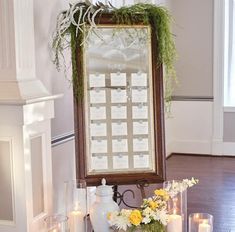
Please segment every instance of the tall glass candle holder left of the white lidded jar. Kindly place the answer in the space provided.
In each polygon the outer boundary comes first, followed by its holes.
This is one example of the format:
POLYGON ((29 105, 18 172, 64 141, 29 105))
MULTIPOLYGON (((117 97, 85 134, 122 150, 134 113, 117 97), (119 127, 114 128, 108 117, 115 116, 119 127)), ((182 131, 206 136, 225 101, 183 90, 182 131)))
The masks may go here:
POLYGON ((87 231, 87 186, 85 180, 65 182, 65 209, 70 232, 87 231))

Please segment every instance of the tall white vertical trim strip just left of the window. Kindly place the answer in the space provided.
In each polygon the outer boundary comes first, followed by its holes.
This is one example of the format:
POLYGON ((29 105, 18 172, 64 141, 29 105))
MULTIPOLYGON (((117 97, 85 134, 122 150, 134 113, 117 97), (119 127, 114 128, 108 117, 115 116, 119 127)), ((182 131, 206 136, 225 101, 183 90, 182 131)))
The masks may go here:
POLYGON ((224 86, 224 1, 214 1, 212 154, 222 155, 224 86))

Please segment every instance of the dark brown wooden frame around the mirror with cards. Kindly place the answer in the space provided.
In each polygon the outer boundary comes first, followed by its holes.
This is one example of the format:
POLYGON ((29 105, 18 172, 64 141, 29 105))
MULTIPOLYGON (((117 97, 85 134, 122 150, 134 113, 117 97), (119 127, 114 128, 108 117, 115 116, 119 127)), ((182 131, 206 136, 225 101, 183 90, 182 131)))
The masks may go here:
MULTIPOLYGON (((113 20, 113 15, 102 14, 96 20, 97 25, 119 25, 113 20)), ((138 22, 136 25, 144 25, 138 22)), ((120 25, 119 25, 120 26, 120 25)), ((151 31, 153 27, 150 25, 151 31)), ((76 48, 77 54, 83 52, 83 48, 76 48)), ((153 88, 153 133, 155 145, 155 172, 149 173, 115 173, 115 174, 87 174, 87 153, 86 153, 86 128, 85 128, 85 104, 84 99, 74 96, 74 120, 75 120, 75 154, 76 154, 76 177, 85 179, 88 186, 99 185, 102 178, 108 184, 136 184, 138 181, 148 183, 160 183, 165 180, 165 134, 164 134, 164 97, 163 97, 163 69, 157 63, 157 38, 155 33, 151 33, 151 55, 152 55, 152 88, 153 88)), ((83 60, 77 55, 77 70, 79 77, 83 75, 83 60)), ((80 78, 81 79, 81 78, 80 78)), ((80 80, 81 81, 81 80, 80 80)), ((83 80, 82 80, 83 81, 83 80)))

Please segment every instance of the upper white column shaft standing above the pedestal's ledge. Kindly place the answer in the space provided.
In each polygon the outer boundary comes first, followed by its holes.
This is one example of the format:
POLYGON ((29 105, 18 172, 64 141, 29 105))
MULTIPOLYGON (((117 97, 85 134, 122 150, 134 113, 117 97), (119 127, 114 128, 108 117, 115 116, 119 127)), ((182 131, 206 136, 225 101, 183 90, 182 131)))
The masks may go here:
POLYGON ((35 76, 33 1, 0 0, 0 101, 49 96, 35 76))

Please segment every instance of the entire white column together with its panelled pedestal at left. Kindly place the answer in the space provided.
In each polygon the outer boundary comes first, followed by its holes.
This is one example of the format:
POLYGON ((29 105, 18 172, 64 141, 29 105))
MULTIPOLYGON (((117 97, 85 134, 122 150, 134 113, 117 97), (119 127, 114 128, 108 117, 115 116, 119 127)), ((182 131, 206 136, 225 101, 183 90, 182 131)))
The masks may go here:
POLYGON ((0 0, 0 232, 45 231, 52 209, 58 96, 35 74, 33 12, 33 1, 0 0))

